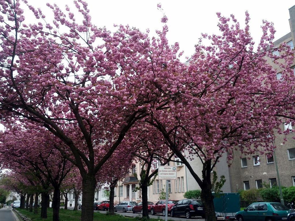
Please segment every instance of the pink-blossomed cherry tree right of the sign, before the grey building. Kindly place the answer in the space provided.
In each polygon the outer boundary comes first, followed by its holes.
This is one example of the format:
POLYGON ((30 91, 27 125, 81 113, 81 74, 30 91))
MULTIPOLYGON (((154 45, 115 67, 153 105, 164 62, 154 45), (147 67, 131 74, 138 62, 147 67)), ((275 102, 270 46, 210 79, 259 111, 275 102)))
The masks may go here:
POLYGON ((220 157, 226 155, 230 164, 234 150, 246 155, 274 151, 275 131, 282 132, 278 116, 294 118, 290 68, 294 52, 286 44, 273 49, 273 24, 263 21, 263 36, 254 49, 247 12, 244 29, 233 15, 231 19, 217 16, 221 34, 203 34, 211 45, 202 45, 201 38, 187 70, 171 84, 179 96, 174 96, 169 108, 155 110, 146 119, 161 131, 201 187, 209 221, 215 220, 211 171, 220 157), (280 56, 272 55, 272 50, 279 50, 280 56), (268 64, 266 57, 273 58, 279 69, 268 64), (284 74, 283 81, 276 78, 278 70, 284 74), (203 164, 202 177, 191 167, 192 159, 203 164))

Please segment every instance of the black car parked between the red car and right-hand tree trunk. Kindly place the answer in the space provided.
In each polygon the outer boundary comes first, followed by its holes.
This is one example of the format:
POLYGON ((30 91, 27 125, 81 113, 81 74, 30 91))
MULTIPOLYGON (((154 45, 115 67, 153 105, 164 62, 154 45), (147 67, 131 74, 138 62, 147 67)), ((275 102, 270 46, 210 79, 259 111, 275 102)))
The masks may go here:
POLYGON ((205 218, 204 206, 199 199, 181 199, 171 208, 171 217, 185 216, 187 219, 192 216, 205 218))

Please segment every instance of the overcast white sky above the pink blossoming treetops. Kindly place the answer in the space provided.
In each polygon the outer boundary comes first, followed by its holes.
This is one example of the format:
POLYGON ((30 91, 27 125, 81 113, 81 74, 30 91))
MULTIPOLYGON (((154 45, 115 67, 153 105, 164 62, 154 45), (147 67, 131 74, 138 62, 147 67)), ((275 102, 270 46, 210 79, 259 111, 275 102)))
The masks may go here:
MULTIPOLYGON (((62 9, 65 4, 74 8, 72 0, 28 0, 28 2, 35 8, 40 7, 47 15, 47 19, 51 18, 52 13, 46 11, 46 2, 57 3, 62 9)), ((98 27, 106 26, 112 29, 113 24, 129 24, 142 31, 150 29, 150 33, 154 33, 154 30, 162 27, 160 22, 162 12, 157 9, 157 4, 160 3, 163 12, 168 17, 169 43, 179 42, 181 50, 185 52, 182 60, 194 53, 194 45, 198 42, 201 33, 219 33, 216 12, 221 12, 226 17, 234 14, 241 27, 244 27, 245 11, 247 10, 251 18, 250 32, 255 42, 259 42, 262 34, 260 26, 263 19, 274 23, 277 30, 275 39, 290 32, 288 9, 295 4, 294 0, 276 1, 275 4, 274 1, 261 0, 88 0, 87 2, 92 22, 98 27)))

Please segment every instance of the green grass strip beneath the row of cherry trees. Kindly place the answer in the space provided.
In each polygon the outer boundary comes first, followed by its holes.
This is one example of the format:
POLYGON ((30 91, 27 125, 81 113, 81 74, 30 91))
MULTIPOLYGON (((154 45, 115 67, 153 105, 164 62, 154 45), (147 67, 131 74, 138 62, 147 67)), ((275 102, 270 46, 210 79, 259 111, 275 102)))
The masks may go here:
MULTIPOLYGON (((41 219, 39 209, 38 214, 34 214, 24 209, 17 208, 19 212, 22 213, 25 217, 31 219, 32 221, 52 221, 53 210, 52 208, 47 209, 47 219, 41 219)), ((108 213, 99 213, 94 212, 94 221, 135 221, 135 220, 145 220, 140 217, 130 218, 124 217, 122 215, 109 215, 108 213)), ((81 221, 81 210, 73 211, 73 210, 60 210, 59 211, 60 221, 81 221)), ((159 219, 149 219, 150 221, 158 221, 159 219)))

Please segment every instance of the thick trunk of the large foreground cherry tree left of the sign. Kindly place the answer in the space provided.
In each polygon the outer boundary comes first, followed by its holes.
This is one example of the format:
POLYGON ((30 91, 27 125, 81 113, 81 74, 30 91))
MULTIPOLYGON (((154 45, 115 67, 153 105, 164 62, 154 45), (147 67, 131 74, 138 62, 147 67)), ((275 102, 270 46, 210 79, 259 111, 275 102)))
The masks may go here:
POLYGON ((93 221, 93 202, 96 187, 94 174, 86 174, 82 177, 82 212, 81 221, 93 221))

